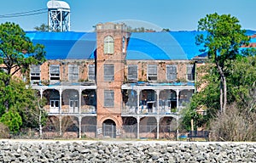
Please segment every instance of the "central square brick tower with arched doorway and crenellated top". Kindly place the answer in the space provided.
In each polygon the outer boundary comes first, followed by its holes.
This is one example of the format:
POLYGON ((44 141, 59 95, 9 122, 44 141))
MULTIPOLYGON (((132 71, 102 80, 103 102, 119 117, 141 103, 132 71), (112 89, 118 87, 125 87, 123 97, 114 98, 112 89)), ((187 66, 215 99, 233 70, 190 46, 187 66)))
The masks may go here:
POLYGON ((122 126, 121 86, 128 33, 125 24, 105 23, 96 25, 96 34, 97 128, 102 131, 98 137, 116 138, 122 126))

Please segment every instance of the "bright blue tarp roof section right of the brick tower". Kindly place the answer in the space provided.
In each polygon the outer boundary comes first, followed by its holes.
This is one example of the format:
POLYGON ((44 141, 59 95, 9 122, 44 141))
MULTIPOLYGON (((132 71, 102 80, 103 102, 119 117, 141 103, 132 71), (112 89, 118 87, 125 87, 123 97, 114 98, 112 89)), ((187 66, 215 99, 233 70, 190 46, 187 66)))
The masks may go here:
POLYGON ((195 45, 200 31, 140 32, 132 33, 126 59, 193 59, 204 55, 195 45))

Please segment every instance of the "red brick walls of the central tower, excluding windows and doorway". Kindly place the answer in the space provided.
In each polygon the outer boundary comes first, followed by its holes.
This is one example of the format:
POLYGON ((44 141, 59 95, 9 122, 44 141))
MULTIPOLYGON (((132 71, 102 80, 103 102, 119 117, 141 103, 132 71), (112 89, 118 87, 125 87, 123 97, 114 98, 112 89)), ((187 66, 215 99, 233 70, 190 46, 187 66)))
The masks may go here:
MULTIPOLYGON (((123 37, 126 36, 126 32, 120 29, 106 29, 107 25, 113 25, 106 23, 102 25, 102 29, 99 29, 97 25, 97 59, 96 59, 96 85, 97 85, 97 124, 102 126, 102 122, 111 119, 113 120, 117 128, 122 125, 121 119, 121 104, 122 93, 121 86, 124 82, 124 68, 125 68, 125 53, 123 53, 123 37), (114 50, 113 54, 104 53, 104 38, 113 37, 114 50), (104 81, 104 64, 114 65, 114 80, 113 82, 104 81), (104 90, 113 90, 114 92, 114 106, 104 107, 104 90)), ((121 26, 121 25, 120 25, 121 26)), ((120 27, 119 26, 119 27, 120 27)))

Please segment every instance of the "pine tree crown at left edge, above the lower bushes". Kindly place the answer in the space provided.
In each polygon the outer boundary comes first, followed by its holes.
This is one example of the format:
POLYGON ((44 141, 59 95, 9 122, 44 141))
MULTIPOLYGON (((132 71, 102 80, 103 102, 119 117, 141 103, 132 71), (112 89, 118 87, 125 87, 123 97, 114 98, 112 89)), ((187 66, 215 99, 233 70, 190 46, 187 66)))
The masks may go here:
POLYGON ((17 72, 25 73, 30 65, 42 64, 45 61, 44 46, 33 45, 26 37, 26 32, 15 23, 6 22, 0 25, 0 63, 8 75, 4 78, 5 86, 17 72))

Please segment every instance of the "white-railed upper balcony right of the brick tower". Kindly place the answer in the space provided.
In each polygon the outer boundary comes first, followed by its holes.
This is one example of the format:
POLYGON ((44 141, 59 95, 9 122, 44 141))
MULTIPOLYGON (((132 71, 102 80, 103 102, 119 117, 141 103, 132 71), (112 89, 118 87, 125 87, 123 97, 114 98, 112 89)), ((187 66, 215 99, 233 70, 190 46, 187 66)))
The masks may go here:
POLYGON ((122 115, 177 115, 194 92, 193 82, 125 84, 122 115))

